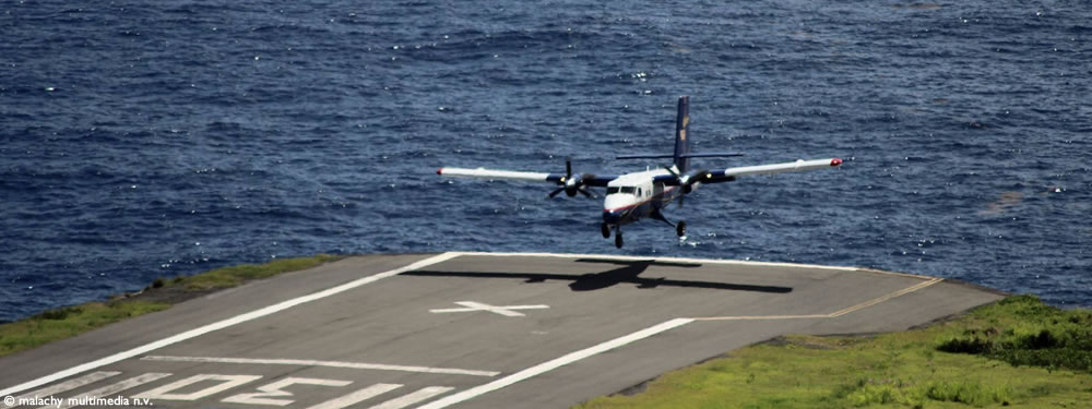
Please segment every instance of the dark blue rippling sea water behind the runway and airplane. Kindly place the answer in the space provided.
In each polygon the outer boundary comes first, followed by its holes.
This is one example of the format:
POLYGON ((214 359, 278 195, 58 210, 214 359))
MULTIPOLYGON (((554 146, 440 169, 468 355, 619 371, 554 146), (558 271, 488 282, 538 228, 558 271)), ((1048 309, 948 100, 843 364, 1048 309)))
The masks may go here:
POLYGON ((1092 305, 1079 1, 0 4, 0 321, 156 277, 447 250, 867 266, 1092 305), (696 151, 835 171, 703 187, 616 250, 600 201, 441 166, 696 151))

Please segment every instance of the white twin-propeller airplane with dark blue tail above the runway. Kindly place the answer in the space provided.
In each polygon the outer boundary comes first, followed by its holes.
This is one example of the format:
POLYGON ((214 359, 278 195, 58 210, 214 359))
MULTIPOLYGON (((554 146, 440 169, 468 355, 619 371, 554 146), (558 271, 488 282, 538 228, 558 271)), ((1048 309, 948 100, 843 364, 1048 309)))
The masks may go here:
POLYGON ((675 228, 678 237, 685 237, 686 221, 672 222, 664 216, 663 209, 676 200, 678 200, 678 205, 681 208, 684 197, 696 191, 701 184, 732 182, 741 176, 832 169, 842 165, 842 159, 827 158, 814 160, 799 159, 791 163, 727 169, 691 169, 691 158, 735 157, 743 155, 738 153, 691 153, 690 141, 687 135, 687 127, 690 124, 689 107, 690 98, 686 95, 679 97, 678 113, 675 118, 675 153, 673 155, 624 155, 616 157, 616 159, 672 159, 672 166, 665 166, 662 169, 650 169, 625 175, 573 173, 572 160, 566 158, 565 173, 484 168, 440 168, 436 173, 448 177, 549 182, 559 185, 559 188, 547 195, 547 199, 553 199, 561 192, 565 192, 569 197, 580 193, 586 197, 594 199, 596 195, 589 192, 587 187, 606 188, 606 197, 603 200, 603 222, 600 225, 600 230, 605 239, 609 239, 610 232, 614 230, 615 246, 621 249, 624 243, 621 227, 642 218, 652 218, 666 222, 675 228))

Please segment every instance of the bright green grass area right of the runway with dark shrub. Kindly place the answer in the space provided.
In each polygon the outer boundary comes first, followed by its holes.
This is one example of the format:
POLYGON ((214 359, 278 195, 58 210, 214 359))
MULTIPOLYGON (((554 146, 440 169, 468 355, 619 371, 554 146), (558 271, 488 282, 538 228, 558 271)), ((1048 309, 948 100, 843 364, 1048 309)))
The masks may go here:
POLYGON ((1092 311, 1011 297, 927 328, 791 336, 578 408, 1088 408, 1092 311))

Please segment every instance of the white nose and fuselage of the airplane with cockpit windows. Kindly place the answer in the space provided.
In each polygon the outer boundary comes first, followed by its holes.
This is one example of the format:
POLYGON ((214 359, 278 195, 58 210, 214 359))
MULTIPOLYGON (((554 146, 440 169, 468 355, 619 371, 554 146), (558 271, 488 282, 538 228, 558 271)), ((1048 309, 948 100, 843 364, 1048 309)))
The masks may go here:
MULTIPOLYGON (((603 222, 608 226, 625 226, 660 212, 679 196, 678 187, 668 187, 653 181, 656 176, 668 175, 666 170, 646 170, 622 175, 607 183, 607 195, 603 200, 603 222)), ((692 185, 697 188, 697 183, 692 185)))

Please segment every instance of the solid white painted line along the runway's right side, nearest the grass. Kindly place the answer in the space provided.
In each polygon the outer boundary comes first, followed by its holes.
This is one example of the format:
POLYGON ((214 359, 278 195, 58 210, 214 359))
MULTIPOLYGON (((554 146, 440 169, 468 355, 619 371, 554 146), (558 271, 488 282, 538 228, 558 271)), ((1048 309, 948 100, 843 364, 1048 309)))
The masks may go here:
POLYGON ((666 321, 666 322, 661 323, 658 325, 654 325, 654 326, 651 326, 651 327, 638 330, 636 333, 632 333, 632 334, 629 334, 629 335, 625 335, 625 336, 621 336, 621 337, 618 337, 618 338, 615 338, 615 339, 612 339, 612 340, 608 340, 608 341, 595 345, 593 347, 584 348, 584 349, 581 349, 579 351, 565 354, 565 356, 562 356, 560 358, 556 358, 556 359, 553 359, 553 360, 539 363, 537 365, 527 368, 527 369, 525 369, 523 371, 520 371, 520 372, 513 373, 511 375, 501 377, 501 378, 499 378, 497 381, 494 381, 494 382, 490 382, 490 383, 487 383, 487 384, 484 384, 484 385, 478 385, 478 386, 472 387, 470 389, 460 392, 460 393, 454 394, 454 395, 450 395, 450 396, 448 396, 446 398, 436 400, 436 401, 434 401, 431 404, 418 407, 417 409, 440 409, 440 408, 447 408, 449 406, 452 406, 452 405, 455 405, 455 404, 459 404, 459 402, 462 402, 462 401, 466 401, 466 400, 473 399, 473 398, 475 398, 477 396, 480 396, 480 395, 484 395, 484 394, 487 394, 487 393, 500 389, 502 387, 512 385, 512 384, 514 384, 517 382, 521 382, 521 381, 524 381, 524 380, 527 380, 527 378, 541 375, 543 373, 553 371, 553 370, 558 369, 560 366, 563 366, 563 365, 567 365, 567 364, 580 361, 580 360, 582 360, 584 358, 592 357, 592 356, 595 356, 595 354, 598 354, 598 353, 603 353, 603 352, 609 351, 612 349, 625 346, 627 344, 630 344, 630 342, 633 342, 633 341, 637 341, 637 340, 640 340, 640 339, 644 339, 644 338, 651 337, 653 335, 656 335, 656 334, 666 332, 668 329, 676 328, 676 327, 689 324, 691 322, 693 322, 692 318, 675 318, 675 320, 666 321))

